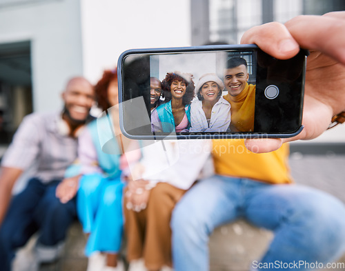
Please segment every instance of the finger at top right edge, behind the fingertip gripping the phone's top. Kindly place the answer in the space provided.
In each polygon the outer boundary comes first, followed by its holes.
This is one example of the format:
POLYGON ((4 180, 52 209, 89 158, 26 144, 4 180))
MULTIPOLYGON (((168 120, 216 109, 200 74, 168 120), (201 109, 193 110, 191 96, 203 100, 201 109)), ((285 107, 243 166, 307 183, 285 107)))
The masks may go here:
POLYGON ((285 23, 302 48, 317 50, 345 64, 345 12, 298 16, 285 23))

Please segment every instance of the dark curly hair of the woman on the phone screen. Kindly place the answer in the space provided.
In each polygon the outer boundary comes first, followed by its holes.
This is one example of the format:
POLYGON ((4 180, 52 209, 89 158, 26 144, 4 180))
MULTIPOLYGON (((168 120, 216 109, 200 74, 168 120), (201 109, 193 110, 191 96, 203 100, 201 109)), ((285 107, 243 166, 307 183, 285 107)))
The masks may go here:
POLYGON ((161 81, 161 89, 163 90, 162 97, 165 98, 164 103, 167 103, 172 98, 171 90, 170 90, 170 85, 172 84, 172 81, 181 81, 181 82, 186 83, 186 94, 184 94, 184 97, 182 98, 182 103, 184 104, 184 106, 186 106, 187 104, 190 104, 195 95, 193 75, 192 74, 179 75, 175 72, 168 72, 166 74, 166 78, 163 81, 161 81))

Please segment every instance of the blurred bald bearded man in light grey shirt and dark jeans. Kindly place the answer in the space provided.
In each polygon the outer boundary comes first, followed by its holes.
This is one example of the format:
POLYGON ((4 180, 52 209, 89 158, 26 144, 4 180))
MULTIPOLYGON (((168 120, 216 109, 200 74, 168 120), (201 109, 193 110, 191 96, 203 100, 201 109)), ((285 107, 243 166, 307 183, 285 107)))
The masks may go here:
MULTIPOLYGON (((70 79, 62 93, 62 112, 26 116, 14 134, 0 169, 0 263, 10 271, 15 250, 39 231, 35 251, 55 260, 68 226, 76 215, 75 201, 61 201, 63 191, 77 183, 63 179, 77 157, 77 134, 90 117, 95 92, 83 77, 70 79), (20 175, 34 165, 26 188, 12 197, 20 175), (61 192, 62 191, 62 192, 61 192), (48 253, 47 252, 51 252, 48 253)), ((50 258, 50 259, 49 259, 50 258)))

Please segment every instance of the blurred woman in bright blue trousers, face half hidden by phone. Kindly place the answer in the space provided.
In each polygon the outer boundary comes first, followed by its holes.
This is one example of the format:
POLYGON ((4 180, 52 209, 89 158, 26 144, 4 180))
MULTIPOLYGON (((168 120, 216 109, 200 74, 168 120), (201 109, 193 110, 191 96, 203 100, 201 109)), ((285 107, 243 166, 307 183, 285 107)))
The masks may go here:
POLYGON ((88 234, 88 271, 124 270, 117 261, 123 234, 117 70, 103 72, 95 86, 103 116, 79 135, 77 214, 88 234))

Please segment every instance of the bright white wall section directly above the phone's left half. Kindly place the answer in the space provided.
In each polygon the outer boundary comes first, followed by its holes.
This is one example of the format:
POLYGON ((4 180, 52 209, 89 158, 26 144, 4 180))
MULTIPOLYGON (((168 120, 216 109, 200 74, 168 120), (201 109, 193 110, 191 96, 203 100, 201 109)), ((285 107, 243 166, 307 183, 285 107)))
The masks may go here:
POLYGON ((132 48, 190 46, 189 0, 81 0, 84 72, 92 83, 132 48))

